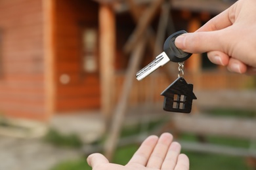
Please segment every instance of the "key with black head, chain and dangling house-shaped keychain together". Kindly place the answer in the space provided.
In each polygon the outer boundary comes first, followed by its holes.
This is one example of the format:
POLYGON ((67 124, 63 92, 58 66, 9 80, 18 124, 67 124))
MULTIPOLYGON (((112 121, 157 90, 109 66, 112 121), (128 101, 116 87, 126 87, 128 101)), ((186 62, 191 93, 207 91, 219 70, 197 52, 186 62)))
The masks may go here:
POLYGON ((193 84, 186 83, 182 76, 184 75, 184 61, 190 58, 192 54, 184 52, 175 46, 175 39, 183 33, 186 33, 186 31, 178 31, 169 36, 163 45, 163 52, 137 73, 137 79, 142 80, 142 78, 150 75, 150 73, 165 65, 168 61, 179 62, 177 80, 161 93, 165 97, 163 110, 190 113, 192 101, 196 99, 196 95, 193 93, 193 84))

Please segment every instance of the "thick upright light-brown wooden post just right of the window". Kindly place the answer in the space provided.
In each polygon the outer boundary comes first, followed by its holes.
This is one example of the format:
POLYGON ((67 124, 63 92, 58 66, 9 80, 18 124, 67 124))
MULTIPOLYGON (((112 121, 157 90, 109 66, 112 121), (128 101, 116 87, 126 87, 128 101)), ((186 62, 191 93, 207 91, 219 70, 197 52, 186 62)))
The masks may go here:
POLYGON ((114 92, 114 57, 116 52, 116 20, 112 7, 102 3, 99 8, 101 110, 106 125, 111 119, 114 92))

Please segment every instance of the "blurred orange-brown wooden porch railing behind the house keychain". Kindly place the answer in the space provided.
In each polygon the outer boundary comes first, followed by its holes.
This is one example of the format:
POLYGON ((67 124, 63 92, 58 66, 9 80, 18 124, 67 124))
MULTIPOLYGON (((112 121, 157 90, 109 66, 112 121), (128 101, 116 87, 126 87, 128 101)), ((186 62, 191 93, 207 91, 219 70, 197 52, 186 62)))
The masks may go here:
MULTIPOLYGON (((176 78, 176 77, 175 77, 176 78)), ((129 97, 129 105, 140 105, 141 103, 160 103, 163 96, 160 95, 175 78, 167 80, 163 73, 152 74, 141 81, 136 77, 129 97)), ((186 82, 194 84, 194 91, 200 90, 242 90, 253 86, 253 77, 228 72, 203 72, 187 74, 184 76, 186 82)), ((119 99, 122 90, 124 74, 115 77, 114 100, 119 99)), ((256 86, 255 86, 256 88, 256 86)))

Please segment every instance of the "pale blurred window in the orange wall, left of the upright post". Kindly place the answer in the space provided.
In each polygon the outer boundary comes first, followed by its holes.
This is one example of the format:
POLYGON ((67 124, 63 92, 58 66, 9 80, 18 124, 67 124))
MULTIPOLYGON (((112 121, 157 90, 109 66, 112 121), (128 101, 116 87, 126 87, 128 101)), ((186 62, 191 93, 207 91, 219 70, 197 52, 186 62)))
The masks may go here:
POLYGON ((83 56, 82 67, 86 73, 95 73, 97 64, 97 39, 98 33, 95 28, 83 29, 83 56))

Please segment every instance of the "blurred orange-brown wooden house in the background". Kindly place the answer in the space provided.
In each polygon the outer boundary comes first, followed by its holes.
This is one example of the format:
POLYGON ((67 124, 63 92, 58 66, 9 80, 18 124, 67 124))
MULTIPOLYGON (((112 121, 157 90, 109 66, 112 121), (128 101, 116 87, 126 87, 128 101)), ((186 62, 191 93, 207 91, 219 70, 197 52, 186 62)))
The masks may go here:
MULTIPOLYGON (((0 1, 0 114, 49 120, 60 112, 112 110, 132 52, 125 53, 124 46, 141 25, 127 2, 0 1)), ((137 16, 142 16, 154 1, 135 2, 141 12, 137 16)), ((173 21, 165 37, 175 30, 195 31, 230 4, 221 0, 171 1, 167 15, 173 21)), ((157 31, 160 16, 161 8, 146 27, 151 25, 157 31)), ((150 46, 145 51, 139 67, 154 57, 150 46)), ((245 76, 210 65, 199 55, 186 62, 185 74, 196 89, 244 88, 249 82, 245 76)), ((172 77, 168 80, 158 72, 133 84, 131 105, 146 101, 151 78, 158 86, 154 88, 154 101, 163 100, 160 93, 172 77)))

